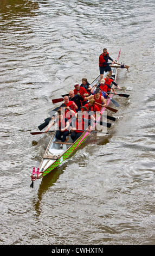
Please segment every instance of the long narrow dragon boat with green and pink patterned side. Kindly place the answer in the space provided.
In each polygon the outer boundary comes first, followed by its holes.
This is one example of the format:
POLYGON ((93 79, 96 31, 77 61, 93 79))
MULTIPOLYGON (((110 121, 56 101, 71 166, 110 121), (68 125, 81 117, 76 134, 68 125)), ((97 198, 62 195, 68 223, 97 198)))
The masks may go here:
MULTIPOLYGON (((118 54, 117 62, 120 57, 120 51, 118 54)), ((112 68, 112 77, 114 78, 114 81, 117 79, 117 68, 115 66, 112 68)), ((104 77, 106 77, 107 73, 104 74, 104 77)), ((95 78, 95 80, 91 83, 91 86, 93 87, 94 84, 98 83, 100 78, 100 75, 95 78)), ((112 95, 109 95, 109 98, 107 99, 107 106, 109 102, 111 101, 112 95)), ((105 107, 101 109, 101 113, 105 111, 105 107)), ((100 120, 99 116, 96 118, 96 121, 100 120)), ((94 126, 96 124, 94 123, 94 126)), ((94 128, 94 127, 93 127, 94 128)), ((57 166, 59 166, 64 160, 66 160, 76 149, 80 147, 80 145, 86 140, 86 138, 90 135, 90 132, 84 131, 82 135, 73 143, 70 136, 68 136, 67 142, 60 142, 58 139, 56 139, 56 132, 51 137, 50 142, 48 144, 48 147, 44 153, 43 159, 41 161, 40 167, 37 168, 37 171, 35 171, 35 168, 33 169, 33 173, 31 174, 31 185, 30 187, 33 187, 34 181, 36 179, 41 179, 48 173, 50 173, 53 169, 55 169, 57 166), (63 148, 60 149, 60 145, 63 144, 63 148)))

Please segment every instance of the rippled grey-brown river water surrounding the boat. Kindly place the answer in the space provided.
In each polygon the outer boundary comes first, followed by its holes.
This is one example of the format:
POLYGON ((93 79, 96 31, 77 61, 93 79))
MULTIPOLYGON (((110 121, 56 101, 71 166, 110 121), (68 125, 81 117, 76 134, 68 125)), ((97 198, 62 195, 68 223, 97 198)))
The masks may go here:
MULTIPOLYGON (((1 0, 1 245, 154 245, 154 1, 1 0), (50 135, 30 135, 51 99, 130 68, 109 135, 89 136, 30 188, 50 135)), ((111 107, 116 108, 113 103, 111 107)))

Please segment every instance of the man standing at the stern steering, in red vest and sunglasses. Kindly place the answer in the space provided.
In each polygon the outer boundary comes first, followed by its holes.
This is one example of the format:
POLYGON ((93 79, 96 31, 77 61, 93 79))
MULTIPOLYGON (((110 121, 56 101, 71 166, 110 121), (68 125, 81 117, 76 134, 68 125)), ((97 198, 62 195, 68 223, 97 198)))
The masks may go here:
POLYGON ((114 64, 115 61, 109 57, 109 53, 107 52, 107 48, 104 48, 103 53, 100 54, 99 57, 99 69, 100 69, 100 81, 104 77, 104 71, 109 72, 109 74, 112 76, 112 69, 111 64, 114 64), (112 62, 108 62, 109 60, 112 60, 112 62))

